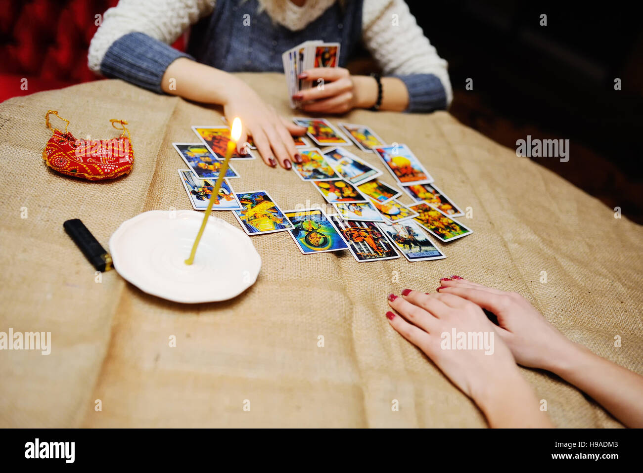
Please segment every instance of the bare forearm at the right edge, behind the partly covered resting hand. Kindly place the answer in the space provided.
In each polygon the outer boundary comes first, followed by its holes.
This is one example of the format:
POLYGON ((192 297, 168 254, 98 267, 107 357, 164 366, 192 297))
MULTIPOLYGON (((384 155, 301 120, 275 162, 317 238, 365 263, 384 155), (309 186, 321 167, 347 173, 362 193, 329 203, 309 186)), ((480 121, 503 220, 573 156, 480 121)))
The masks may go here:
POLYGON ((628 427, 643 427, 643 377, 571 343, 550 370, 628 427))

